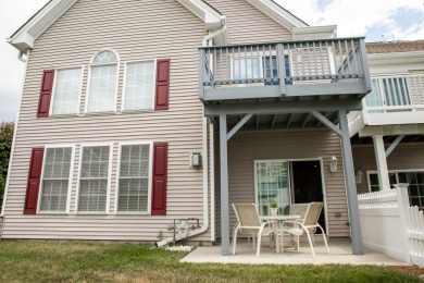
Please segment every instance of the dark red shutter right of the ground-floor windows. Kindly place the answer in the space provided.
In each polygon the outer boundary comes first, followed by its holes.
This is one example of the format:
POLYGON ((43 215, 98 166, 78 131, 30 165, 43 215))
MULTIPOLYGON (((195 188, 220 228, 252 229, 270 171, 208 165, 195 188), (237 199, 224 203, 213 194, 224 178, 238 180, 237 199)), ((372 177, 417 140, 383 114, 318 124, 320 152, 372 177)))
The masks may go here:
POLYGON ((167 143, 153 144, 152 216, 166 216, 167 143))

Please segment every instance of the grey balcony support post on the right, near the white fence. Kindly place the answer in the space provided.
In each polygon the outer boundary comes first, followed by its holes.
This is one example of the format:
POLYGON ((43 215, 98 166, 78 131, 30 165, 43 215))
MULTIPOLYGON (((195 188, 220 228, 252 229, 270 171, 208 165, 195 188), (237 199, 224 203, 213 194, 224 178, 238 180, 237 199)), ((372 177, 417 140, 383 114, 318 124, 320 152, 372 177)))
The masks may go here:
POLYGON ((350 235, 353 255, 363 255, 362 233, 359 218, 358 192, 354 181, 353 157, 350 145, 349 123, 346 110, 338 111, 341 132, 341 153, 344 157, 344 170, 347 186, 348 208, 350 218, 350 235))

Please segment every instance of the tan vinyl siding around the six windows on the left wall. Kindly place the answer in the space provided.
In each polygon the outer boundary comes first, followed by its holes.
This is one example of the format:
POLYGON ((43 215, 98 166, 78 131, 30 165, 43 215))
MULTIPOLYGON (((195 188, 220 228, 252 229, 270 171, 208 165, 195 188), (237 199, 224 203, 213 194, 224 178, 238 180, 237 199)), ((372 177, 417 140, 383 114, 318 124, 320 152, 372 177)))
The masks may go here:
MULTIPOLYGON (((204 24, 174 0, 80 0, 37 41, 30 53, 5 205, 5 238, 157 241, 173 219, 203 223, 202 170, 190 169, 190 152, 202 151, 202 104, 198 97, 198 52, 204 24), (171 59, 169 111, 85 114, 88 63, 102 48, 120 56, 117 110, 124 62, 171 59), (36 119, 43 70, 84 65, 80 115, 36 119), (75 214, 82 144, 113 143, 110 213, 114 213, 119 143, 167 142, 167 216, 75 214), (23 216, 33 147, 76 145, 71 214, 23 216)), ((210 241, 210 233, 195 237, 210 241)))

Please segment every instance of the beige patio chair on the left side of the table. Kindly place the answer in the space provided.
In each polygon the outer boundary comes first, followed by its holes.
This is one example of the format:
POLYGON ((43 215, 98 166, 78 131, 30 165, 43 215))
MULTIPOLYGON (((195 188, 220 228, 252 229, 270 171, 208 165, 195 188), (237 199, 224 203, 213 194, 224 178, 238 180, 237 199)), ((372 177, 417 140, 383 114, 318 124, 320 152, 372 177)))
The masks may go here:
POLYGON ((237 223, 233 231, 233 255, 236 255, 237 233, 240 232, 252 237, 253 250, 257 250, 257 257, 259 257, 262 236, 271 236, 275 232, 276 225, 273 224, 276 222, 262 222, 254 204, 233 204, 232 207, 237 217, 237 223), (258 244, 255 244, 257 237, 258 244))

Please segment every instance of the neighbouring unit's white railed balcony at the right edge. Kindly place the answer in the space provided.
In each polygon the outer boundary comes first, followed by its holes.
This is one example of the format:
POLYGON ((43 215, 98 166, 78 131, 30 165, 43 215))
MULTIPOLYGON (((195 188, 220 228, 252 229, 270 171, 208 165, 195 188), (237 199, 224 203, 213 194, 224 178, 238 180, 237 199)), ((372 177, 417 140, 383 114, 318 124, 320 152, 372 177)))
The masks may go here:
POLYGON ((364 126, 424 124, 424 74, 398 74, 371 79, 363 110, 349 113, 350 135, 364 126))

